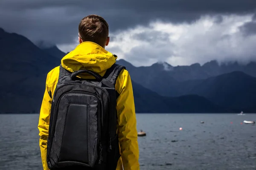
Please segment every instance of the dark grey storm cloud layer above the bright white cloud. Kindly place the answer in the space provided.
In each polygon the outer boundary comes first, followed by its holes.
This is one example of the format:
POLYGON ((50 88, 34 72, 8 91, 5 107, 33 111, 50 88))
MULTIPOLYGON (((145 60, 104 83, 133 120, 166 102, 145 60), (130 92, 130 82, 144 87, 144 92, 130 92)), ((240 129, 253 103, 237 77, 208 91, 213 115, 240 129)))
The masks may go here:
POLYGON ((33 41, 63 44, 74 41, 88 14, 104 17, 113 32, 156 19, 192 22, 203 14, 246 14, 255 8, 256 0, 1 0, 0 27, 33 41))

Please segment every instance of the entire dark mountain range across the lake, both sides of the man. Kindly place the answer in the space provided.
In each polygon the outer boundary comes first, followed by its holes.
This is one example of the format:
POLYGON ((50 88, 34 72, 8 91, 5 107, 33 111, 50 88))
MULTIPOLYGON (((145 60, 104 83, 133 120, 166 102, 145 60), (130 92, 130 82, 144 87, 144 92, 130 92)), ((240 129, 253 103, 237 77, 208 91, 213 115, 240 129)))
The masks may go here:
MULTIPOLYGON (((38 113, 47 73, 66 53, 55 45, 35 45, 0 28, 0 113, 38 113)), ((131 74, 137 113, 256 112, 256 63, 173 67, 166 62, 135 67, 119 59, 131 74)))

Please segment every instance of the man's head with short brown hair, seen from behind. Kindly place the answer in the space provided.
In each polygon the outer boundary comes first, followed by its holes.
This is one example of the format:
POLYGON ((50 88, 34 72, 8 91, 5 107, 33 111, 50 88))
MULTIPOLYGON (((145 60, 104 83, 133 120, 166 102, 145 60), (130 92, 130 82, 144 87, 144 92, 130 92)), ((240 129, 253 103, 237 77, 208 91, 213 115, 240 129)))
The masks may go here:
POLYGON ((103 48, 109 43, 108 23, 99 15, 88 15, 79 23, 79 43, 91 41, 103 48))

